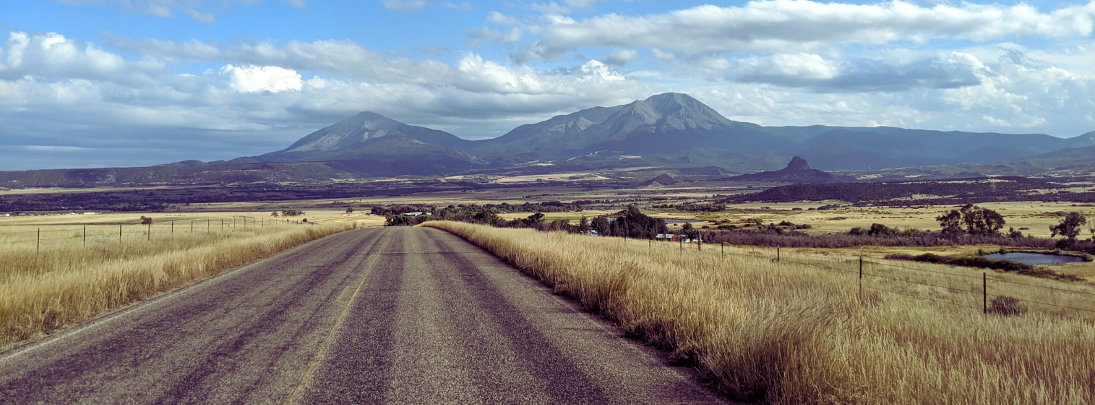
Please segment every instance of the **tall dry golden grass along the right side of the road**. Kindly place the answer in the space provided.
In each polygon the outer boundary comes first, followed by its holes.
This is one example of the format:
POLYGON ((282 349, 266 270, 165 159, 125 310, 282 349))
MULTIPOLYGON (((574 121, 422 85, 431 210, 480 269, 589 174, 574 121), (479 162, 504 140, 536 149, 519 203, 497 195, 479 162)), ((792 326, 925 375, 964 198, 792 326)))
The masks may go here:
MULTIPOLYGON (((436 221, 543 280, 624 329, 690 359, 731 397, 769 404, 1090 404, 1095 324, 1090 313, 1030 305, 984 315, 980 280, 868 265, 890 292, 857 293, 854 261, 784 253, 784 261, 719 256, 717 246, 493 229, 436 221), (904 271, 904 274, 901 274, 904 271)), ((736 254, 771 254, 728 248, 736 254)), ((921 269, 979 277, 926 264, 921 269)), ((963 273, 965 271, 965 273, 963 273)), ((992 278, 1092 292, 1087 285, 992 278)), ((1095 309, 1091 298, 990 281, 991 293, 1095 309), (1048 292, 1047 292, 1048 291, 1048 292)))

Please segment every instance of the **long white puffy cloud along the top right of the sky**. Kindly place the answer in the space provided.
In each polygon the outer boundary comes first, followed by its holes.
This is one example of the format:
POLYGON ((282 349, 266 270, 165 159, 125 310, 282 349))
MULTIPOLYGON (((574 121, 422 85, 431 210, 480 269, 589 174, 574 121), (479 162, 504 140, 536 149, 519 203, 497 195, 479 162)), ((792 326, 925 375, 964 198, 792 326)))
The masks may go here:
POLYGON ((831 44, 883 45, 933 39, 1074 38, 1092 33, 1095 1, 1042 12, 1029 4, 960 3, 921 7, 809 0, 700 5, 664 14, 555 19, 540 27, 540 46, 558 54, 615 46, 684 53, 809 50, 831 44))

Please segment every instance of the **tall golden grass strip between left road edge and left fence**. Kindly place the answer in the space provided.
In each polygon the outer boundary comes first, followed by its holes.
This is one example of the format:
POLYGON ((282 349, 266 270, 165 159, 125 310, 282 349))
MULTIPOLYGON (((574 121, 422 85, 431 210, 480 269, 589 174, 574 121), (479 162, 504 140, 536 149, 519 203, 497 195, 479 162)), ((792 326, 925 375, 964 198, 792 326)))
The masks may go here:
POLYGON ((0 349, 333 233, 354 222, 0 246, 0 349))

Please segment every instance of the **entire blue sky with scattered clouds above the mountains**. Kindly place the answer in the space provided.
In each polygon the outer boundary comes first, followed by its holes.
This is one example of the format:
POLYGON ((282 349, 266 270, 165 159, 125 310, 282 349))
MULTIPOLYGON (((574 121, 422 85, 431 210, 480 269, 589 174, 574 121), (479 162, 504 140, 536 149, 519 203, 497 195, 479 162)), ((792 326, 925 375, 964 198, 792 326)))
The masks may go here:
POLYGON ((470 139, 668 91, 761 125, 1095 130, 1095 1, 57 0, 0 8, 0 171, 470 139))

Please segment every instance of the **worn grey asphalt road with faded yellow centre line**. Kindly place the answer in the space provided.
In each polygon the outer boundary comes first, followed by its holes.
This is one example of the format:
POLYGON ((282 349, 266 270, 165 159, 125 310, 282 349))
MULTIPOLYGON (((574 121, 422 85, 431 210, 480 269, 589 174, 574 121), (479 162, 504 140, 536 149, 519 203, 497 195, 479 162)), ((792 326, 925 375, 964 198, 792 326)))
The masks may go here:
POLYGON ((718 404, 447 232, 298 246, 0 354, 2 404, 718 404))

